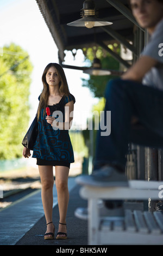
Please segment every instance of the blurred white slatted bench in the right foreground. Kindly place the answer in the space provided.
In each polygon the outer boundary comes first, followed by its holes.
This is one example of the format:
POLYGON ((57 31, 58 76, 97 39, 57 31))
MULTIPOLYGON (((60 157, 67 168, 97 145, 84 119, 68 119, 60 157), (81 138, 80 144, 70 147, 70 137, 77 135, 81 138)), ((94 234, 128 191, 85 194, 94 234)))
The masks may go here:
MULTIPOLYGON (((76 179, 77 183, 78 178, 76 179)), ((160 200, 158 181, 129 181, 129 187, 83 186, 80 196, 88 200, 89 245, 163 245, 163 214, 125 210, 124 216, 100 216, 99 200, 160 200)))

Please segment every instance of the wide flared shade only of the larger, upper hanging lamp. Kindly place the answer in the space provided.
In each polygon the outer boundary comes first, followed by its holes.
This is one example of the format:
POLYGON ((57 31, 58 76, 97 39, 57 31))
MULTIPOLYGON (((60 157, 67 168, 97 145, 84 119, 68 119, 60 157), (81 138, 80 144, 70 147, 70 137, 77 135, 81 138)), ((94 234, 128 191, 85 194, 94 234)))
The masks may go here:
POLYGON ((85 27, 86 26, 86 22, 93 22, 93 26, 92 27, 98 27, 98 26, 108 26, 111 25, 112 22, 109 21, 105 21, 103 19, 98 19, 97 17, 83 17, 82 19, 67 23, 68 26, 74 26, 74 27, 85 27))

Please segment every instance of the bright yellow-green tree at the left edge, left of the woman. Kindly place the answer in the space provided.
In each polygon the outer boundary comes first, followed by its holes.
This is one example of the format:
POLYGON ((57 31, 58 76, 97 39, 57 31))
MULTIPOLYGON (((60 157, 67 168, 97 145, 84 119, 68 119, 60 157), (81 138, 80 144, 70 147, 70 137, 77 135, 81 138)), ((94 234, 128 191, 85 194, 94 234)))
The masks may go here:
POLYGON ((0 67, 0 159, 13 159, 22 157, 33 66, 28 53, 12 43, 3 47, 0 67))

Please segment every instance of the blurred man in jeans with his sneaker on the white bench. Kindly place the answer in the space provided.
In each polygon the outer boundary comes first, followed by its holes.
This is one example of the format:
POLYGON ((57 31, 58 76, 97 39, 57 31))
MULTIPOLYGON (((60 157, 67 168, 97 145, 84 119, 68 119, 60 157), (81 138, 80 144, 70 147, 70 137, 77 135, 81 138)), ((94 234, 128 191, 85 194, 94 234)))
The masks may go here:
POLYGON ((111 133, 104 136, 98 130, 93 172, 80 176, 80 184, 128 186, 128 143, 163 147, 163 2, 130 0, 130 5, 151 38, 139 60, 106 87, 104 113, 106 118, 111 111, 111 133), (133 117, 141 126, 136 126, 133 117))

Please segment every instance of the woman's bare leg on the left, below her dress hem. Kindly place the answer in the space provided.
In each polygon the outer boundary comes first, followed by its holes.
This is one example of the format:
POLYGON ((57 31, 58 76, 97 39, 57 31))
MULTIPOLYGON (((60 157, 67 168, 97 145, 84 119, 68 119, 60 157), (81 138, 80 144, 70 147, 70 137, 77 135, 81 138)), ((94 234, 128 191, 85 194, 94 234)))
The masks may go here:
MULTIPOLYGON (((53 212, 53 166, 39 165, 39 172, 42 184, 41 197, 46 223, 52 222, 53 212)), ((46 233, 53 233, 54 224, 48 224, 46 233)), ((51 235, 49 235, 51 236, 51 235)))

